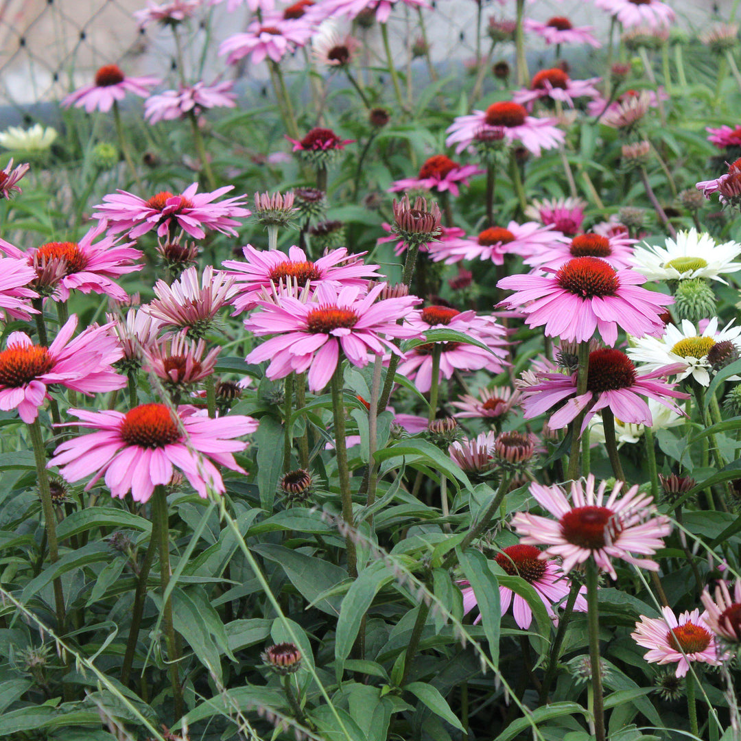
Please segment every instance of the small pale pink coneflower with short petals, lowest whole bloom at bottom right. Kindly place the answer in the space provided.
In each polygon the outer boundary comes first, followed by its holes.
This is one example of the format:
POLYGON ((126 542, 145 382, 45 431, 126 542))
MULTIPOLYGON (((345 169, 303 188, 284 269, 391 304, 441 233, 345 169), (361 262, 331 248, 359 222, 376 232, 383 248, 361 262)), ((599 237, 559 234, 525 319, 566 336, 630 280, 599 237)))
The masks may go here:
POLYGON ((663 618, 641 616, 631 638, 639 646, 650 648, 643 658, 651 664, 677 664, 677 677, 685 677, 690 664, 701 662, 720 665, 718 650, 705 622, 707 613, 700 610, 683 612, 679 619, 671 607, 661 610, 663 618))

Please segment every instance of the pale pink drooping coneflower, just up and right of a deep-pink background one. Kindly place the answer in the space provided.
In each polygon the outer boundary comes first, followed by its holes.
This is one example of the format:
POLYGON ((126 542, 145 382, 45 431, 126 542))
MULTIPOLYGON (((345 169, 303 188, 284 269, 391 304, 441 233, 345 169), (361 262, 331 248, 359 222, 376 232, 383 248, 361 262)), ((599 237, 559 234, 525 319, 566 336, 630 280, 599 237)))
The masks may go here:
POLYGON ((541 149, 553 149, 565 140, 565 133, 556 127, 556 119, 538 119, 515 102, 492 103, 485 111, 474 110, 470 116, 458 116, 448 127, 445 146, 456 146, 460 154, 476 136, 501 134, 508 144, 519 142, 536 157, 541 149))

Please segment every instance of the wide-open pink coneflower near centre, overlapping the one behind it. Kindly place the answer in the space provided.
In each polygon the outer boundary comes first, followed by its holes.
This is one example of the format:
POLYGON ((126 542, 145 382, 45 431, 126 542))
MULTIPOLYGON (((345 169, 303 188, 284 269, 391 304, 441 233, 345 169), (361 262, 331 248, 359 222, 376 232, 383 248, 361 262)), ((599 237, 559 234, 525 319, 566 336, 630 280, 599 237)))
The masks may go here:
MULTIPOLYGON (((373 354, 401 354, 389 339, 419 336, 418 330, 399 325, 414 305, 415 296, 380 299, 385 285, 362 295, 358 286, 337 290, 322 284, 309 302, 293 296, 279 303, 259 302, 262 310, 245 319, 245 328, 259 336, 276 335, 253 350, 248 363, 270 360, 265 374, 270 379, 308 371, 311 391, 325 388, 340 361, 339 350, 353 365, 368 365, 373 354)), ((399 373, 402 371, 399 370, 399 373)))

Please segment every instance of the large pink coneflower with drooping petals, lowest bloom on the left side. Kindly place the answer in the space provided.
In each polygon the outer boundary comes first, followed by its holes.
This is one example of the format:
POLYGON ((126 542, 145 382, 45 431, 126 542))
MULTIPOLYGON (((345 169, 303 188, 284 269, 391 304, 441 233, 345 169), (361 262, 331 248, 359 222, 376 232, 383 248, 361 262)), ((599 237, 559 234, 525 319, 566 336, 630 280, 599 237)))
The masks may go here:
POLYGON ((123 499, 130 491, 135 502, 147 502, 155 486, 170 482, 175 468, 185 473, 204 499, 207 489, 223 494, 224 482, 216 465, 245 473, 232 453, 243 451, 247 443, 234 438, 258 426, 248 416, 209 419, 185 411, 175 413, 164 404, 144 404, 125 414, 87 409, 69 412, 80 420, 71 424, 95 432, 59 445, 49 467, 59 466, 59 473, 69 482, 95 474, 86 489, 105 476, 112 496, 123 499))

